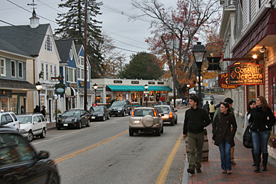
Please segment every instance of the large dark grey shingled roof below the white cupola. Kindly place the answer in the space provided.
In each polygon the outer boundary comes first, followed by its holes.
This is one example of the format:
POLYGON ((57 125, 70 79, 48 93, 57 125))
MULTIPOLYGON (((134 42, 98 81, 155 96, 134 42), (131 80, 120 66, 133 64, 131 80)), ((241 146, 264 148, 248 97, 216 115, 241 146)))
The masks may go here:
POLYGON ((39 54, 49 23, 37 28, 30 25, 0 26, 0 50, 30 56, 39 54))

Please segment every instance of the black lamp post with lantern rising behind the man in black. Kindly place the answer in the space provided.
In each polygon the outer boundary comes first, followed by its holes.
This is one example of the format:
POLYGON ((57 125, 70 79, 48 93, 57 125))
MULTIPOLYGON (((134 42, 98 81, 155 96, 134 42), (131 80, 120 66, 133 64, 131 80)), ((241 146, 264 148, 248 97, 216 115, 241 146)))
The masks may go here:
MULTIPOLYGON (((197 72, 198 76, 201 76, 201 65, 204 60, 204 55, 206 53, 204 45, 201 45, 201 42, 197 42, 197 45, 193 46, 193 55, 195 58, 195 63, 197 63, 197 72)), ((199 84, 199 104, 197 105, 199 108, 201 108, 201 77, 199 77, 198 84, 199 84)))

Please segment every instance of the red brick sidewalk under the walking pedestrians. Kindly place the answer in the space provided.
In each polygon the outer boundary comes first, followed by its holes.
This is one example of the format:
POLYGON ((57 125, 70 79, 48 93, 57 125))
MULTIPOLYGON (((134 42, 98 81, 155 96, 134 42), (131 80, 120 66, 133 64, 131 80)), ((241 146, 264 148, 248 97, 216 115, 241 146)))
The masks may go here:
POLYGON ((188 174, 188 161, 186 159, 182 183, 275 183, 276 181, 276 161, 269 156, 267 171, 254 173, 252 166, 253 158, 251 149, 242 145, 242 136, 235 136, 235 163, 232 165, 232 174, 221 173, 221 161, 219 147, 214 145, 212 140, 212 125, 207 127, 209 141, 208 162, 201 163, 202 173, 188 174))

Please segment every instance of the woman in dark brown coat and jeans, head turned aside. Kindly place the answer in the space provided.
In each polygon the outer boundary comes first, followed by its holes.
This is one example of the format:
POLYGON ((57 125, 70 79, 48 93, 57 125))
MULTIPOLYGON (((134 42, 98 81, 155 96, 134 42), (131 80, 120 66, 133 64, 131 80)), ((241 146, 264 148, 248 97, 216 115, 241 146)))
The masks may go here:
POLYGON ((234 137, 237 131, 237 123, 233 113, 230 112, 228 103, 221 103, 220 112, 213 122, 213 139, 219 146, 222 173, 231 174, 231 147, 235 145, 234 137), (232 127, 231 127, 232 126, 232 127))

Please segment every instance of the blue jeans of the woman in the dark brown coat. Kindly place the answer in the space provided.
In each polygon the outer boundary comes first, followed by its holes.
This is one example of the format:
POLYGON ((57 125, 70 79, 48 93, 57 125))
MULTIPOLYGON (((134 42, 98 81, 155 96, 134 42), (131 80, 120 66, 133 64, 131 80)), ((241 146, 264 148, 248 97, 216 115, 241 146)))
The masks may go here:
POLYGON ((221 168, 223 170, 231 170, 231 145, 227 143, 225 139, 219 143, 219 152, 220 152, 220 160, 221 160, 221 168))

